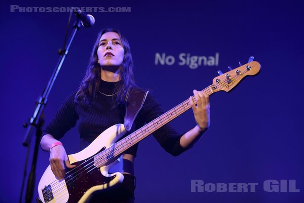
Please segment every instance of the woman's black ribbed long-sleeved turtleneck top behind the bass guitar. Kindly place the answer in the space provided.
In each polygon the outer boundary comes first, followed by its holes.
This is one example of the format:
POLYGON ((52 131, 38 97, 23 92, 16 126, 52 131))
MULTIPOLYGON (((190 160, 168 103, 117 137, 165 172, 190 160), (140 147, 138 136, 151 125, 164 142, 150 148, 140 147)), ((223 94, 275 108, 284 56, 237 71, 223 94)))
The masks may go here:
MULTIPOLYGON (((125 106, 114 105, 116 94, 112 95, 117 82, 100 81, 100 92, 97 98, 91 101, 90 105, 84 107, 75 102, 76 92, 68 96, 52 121, 44 128, 44 134, 51 134, 55 139, 59 140, 64 133, 70 130, 78 123, 78 131, 80 134, 80 148, 86 148, 97 136, 112 125, 123 123, 125 106), (104 93, 104 94, 103 94, 104 93), (107 95, 105 95, 107 94, 107 95)), ((163 114, 157 100, 148 93, 143 108, 136 117, 131 131, 142 127, 155 118, 163 114)), ((153 132, 153 136, 158 143, 170 154, 177 156, 186 149, 181 147, 181 135, 177 133, 170 125, 166 124, 153 132)), ((126 150, 124 153, 136 156, 138 144, 126 150)))

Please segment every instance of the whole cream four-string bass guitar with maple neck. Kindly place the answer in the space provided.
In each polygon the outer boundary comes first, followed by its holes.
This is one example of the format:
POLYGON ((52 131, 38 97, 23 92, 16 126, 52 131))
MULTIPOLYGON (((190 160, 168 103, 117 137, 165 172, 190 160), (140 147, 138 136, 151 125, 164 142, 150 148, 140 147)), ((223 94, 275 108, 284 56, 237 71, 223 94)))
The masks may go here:
MULTIPOLYGON (((260 64, 252 61, 213 79, 213 84, 201 90, 208 95, 218 91, 230 91, 246 76, 256 75, 260 64)), ((195 96, 192 96, 196 104, 195 96)), ((76 165, 66 173, 63 180, 55 178, 50 165, 44 172, 38 186, 40 202, 87 202, 96 191, 108 190, 123 181, 121 173, 109 174, 109 168, 119 161, 119 156, 128 148, 142 141, 158 128, 172 121, 191 108, 189 99, 158 118, 124 136, 123 124, 116 124, 105 130, 84 150, 68 155, 71 164, 76 165), (118 142, 117 142, 118 141, 118 142)))

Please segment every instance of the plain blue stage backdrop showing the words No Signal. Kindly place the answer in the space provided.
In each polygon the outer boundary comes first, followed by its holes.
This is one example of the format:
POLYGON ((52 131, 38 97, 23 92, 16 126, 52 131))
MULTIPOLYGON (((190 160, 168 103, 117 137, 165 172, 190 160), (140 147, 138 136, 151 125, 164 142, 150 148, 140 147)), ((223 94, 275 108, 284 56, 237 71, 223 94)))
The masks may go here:
MULTIPOLYGON (((303 202, 303 3, 159 0, 1 3, 0 202, 19 201, 27 151, 22 124, 56 66, 69 17, 65 8, 73 6, 86 7, 96 22, 82 27, 72 43, 49 95, 46 123, 79 87, 104 27, 124 33, 137 84, 150 88, 165 111, 193 89, 211 85, 228 65, 254 56, 262 66, 231 92, 211 95, 211 126, 192 149, 173 157, 153 136, 140 143, 136 202, 303 202)), ((180 133, 194 127, 192 111, 171 125, 180 133)), ((78 152, 77 127, 61 142, 67 153, 78 152)), ((48 164, 49 153, 40 149, 34 197, 48 164)))

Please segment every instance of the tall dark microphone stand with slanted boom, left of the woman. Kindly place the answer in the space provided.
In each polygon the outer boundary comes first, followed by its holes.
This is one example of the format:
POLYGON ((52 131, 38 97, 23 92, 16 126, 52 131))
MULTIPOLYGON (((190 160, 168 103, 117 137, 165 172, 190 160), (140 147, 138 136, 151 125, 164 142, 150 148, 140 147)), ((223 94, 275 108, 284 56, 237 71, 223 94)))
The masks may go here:
MULTIPOLYGON (((70 21, 70 19, 69 19, 70 21)), ((76 32, 81 27, 81 20, 77 19, 77 21, 73 25, 73 32, 71 34, 71 37, 69 41, 67 42, 66 48, 63 47, 63 50, 59 50, 59 54, 61 55, 59 58, 59 61, 56 65, 56 68, 46 86, 46 88, 43 90, 43 93, 41 94, 40 98, 37 101, 37 106, 35 108, 35 111, 33 113, 33 116, 29 119, 28 123, 24 124, 24 127, 27 127, 27 131, 25 133, 23 146, 28 147, 27 148, 27 154, 25 158, 25 166, 24 166, 24 174, 23 174, 23 181, 22 181, 22 187, 21 187, 21 194, 20 194, 20 203, 22 199, 22 192, 24 188, 24 182, 26 177, 26 168, 27 168, 27 161, 28 161, 28 155, 29 155, 29 147, 30 147, 30 141, 31 141, 31 134, 34 129, 36 129, 36 142, 35 142, 35 149, 33 152, 33 159, 32 159, 32 165, 31 165, 31 171, 28 177, 27 182, 27 189, 26 189, 26 196, 25 196, 25 202, 31 202, 32 196, 33 196, 33 188, 35 186, 35 177, 36 177, 36 164, 37 164, 37 157, 38 157, 38 151, 39 151, 39 145, 40 145, 40 138, 42 136, 42 125, 44 123, 43 116, 43 110, 47 104, 49 93, 53 87, 53 84, 58 76, 58 73, 61 69, 62 63, 69 51, 69 48, 71 46, 71 43, 76 35, 76 32)))

